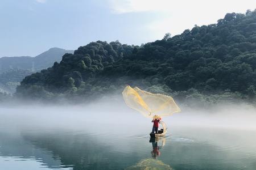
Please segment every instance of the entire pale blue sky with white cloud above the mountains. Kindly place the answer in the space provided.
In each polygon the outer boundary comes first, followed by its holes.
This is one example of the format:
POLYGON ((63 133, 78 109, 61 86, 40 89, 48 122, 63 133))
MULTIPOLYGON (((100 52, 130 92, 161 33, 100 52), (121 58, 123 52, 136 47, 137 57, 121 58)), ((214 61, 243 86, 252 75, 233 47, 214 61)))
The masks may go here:
POLYGON ((255 8, 255 0, 1 0, 0 57, 97 40, 141 45, 255 8))

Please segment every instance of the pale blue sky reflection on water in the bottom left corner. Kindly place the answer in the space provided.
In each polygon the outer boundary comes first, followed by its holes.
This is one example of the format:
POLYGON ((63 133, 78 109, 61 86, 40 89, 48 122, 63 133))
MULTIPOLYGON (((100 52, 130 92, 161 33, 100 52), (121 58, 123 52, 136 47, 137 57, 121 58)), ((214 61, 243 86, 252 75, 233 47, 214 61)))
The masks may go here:
POLYGON ((72 169, 61 165, 61 158, 51 151, 31 145, 17 133, 0 131, 0 169, 72 169), (30 167, 30 168, 28 168, 30 167))

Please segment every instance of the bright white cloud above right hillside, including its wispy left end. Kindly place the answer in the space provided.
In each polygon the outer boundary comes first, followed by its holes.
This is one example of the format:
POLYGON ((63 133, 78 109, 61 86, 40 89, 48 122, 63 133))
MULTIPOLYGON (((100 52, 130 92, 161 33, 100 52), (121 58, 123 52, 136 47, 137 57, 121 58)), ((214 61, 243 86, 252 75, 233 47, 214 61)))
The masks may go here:
MULTIPOLYGON (((228 12, 245 13, 247 9, 256 8, 255 0, 108 0, 114 14, 151 12, 150 20, 143 27, 150 32, 152 40, 162 39, 164 33, 173 36, 191 29, 195 24, 216 23, 228 12), (154 12, 154 13, 153 13, 154 12)), ((140 14, 137 14, 140 15, 140 14)))

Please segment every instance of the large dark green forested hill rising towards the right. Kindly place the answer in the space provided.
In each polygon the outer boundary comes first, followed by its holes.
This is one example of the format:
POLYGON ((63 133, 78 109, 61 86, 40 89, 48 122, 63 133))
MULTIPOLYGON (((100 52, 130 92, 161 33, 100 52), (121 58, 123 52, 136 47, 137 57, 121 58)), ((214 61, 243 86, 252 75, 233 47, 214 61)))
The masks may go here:
POLYGON ((256 10, 141 46, 91 42, 27 76, 16 95, 89 99, 125 84, 177 97, 256 95, 256 10), (192 95, 191 95, 192 94, 192 95), (196 94, 196 95, 195 95, 196 94))

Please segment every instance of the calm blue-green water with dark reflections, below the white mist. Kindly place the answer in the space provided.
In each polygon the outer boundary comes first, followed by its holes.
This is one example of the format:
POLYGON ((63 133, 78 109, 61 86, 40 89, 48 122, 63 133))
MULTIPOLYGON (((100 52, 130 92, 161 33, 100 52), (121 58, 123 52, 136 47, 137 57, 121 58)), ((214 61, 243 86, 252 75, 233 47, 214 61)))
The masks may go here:
POLYGON ((0 129, 0 169, 256 169, 252 132, 184 130, 149 140, 102 131, 0 129))

